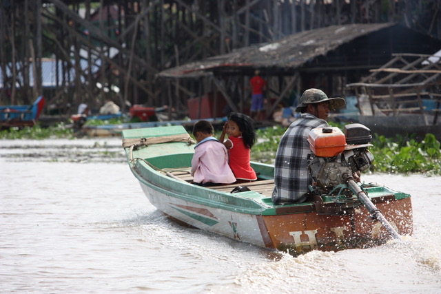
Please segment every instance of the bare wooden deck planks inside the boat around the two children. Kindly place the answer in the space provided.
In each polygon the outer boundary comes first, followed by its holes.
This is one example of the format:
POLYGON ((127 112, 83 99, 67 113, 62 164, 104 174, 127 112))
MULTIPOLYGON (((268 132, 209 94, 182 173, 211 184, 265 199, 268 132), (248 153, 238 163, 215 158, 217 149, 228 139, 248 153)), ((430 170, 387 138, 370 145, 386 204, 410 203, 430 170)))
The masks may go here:
MULTIPOLYGON (((173 171, 171 173, 167 173, 167 175, 178 180, 183 180, 185 182, 192 182, 193 180, 193 177, 190 176, 190 174, 186 171, 173 171)), ((228 193, 238 186, 246 186, 248 189, 256 191, 257 193, 260 193, 265 197, 271 197, 274 189, 274 180, 256 180, 254 182, 243 182, 231 185, 218 185, 206 188, 228 193)))

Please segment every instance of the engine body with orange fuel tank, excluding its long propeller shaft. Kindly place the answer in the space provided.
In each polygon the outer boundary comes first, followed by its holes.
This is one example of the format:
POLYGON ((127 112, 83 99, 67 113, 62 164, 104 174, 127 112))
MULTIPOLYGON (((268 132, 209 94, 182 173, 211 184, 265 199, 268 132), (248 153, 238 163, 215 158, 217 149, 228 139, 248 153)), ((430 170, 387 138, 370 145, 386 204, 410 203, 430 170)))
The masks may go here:
POLYGON ((309 132, 309 171, 319 194, 329 192, 358 171, 369 169, 373 155, 367 147, 371 130, 353 123, 345 125, 345 134, 338 127, 323 127, 309 132))

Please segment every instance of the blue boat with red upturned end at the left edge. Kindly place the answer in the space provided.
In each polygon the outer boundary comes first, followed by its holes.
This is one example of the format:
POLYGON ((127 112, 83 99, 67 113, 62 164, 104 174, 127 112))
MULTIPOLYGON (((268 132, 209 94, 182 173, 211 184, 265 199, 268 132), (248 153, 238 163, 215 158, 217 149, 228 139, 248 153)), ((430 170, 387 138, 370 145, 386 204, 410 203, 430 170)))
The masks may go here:
POLYGON ((32 105, 0 106, 0 127, 25 127, 37 124, 45 98, 39 96, 32 105))

